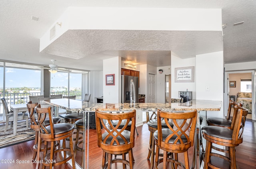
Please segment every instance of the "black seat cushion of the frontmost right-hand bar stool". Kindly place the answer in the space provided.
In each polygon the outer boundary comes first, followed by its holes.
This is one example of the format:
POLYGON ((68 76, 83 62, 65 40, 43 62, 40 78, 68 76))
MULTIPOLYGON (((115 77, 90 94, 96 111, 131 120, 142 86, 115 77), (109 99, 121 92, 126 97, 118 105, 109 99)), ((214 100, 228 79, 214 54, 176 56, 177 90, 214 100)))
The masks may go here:
POLYGON ((217 138, 221 138, 221 139, 232 140, 233 130, 225 128, 225 127, 207 125, 207 126, 202 127, 202 133, 206 133, 208 135, 211 135, 211 136, 217 137, 217 138))

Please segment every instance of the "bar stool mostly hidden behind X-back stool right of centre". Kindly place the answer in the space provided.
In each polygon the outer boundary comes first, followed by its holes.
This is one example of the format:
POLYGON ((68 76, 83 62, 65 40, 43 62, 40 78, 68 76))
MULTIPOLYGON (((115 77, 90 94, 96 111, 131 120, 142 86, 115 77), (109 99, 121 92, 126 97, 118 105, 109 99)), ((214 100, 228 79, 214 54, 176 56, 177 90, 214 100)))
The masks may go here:
MULTIPOLYGON (((148 157, 147 159, 150 159, 151 156, 151 166, 150 169, 154 168, 154 157, 155 157, 155 141, 154 141, 154 132, 157 130, 157 112, 152 111, 152 114, 149 115, 149 112, 146 112, 146 120, 148 124, 148 130, 150 131, 150 139, 149 139, 149 146, 148 146, 148 157)), ((173 126, 172 122, 168 121, 169 125, 173 126)), ((162 128, 168 128, 166 123, 162 121, 162 128)), ((168 153, 168 155, 171 155, 171 153, 168 153)), ((163 156, 162 153, 160 153, 160 156, 163 156)))

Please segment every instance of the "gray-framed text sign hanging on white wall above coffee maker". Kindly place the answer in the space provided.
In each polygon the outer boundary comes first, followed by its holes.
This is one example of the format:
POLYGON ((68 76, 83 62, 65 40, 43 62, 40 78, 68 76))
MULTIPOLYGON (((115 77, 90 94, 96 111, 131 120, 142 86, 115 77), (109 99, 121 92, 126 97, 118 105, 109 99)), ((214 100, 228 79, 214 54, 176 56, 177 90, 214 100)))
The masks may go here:
POLYGON ((194 66, 175 68, 174 82, 194 82, 194 66))

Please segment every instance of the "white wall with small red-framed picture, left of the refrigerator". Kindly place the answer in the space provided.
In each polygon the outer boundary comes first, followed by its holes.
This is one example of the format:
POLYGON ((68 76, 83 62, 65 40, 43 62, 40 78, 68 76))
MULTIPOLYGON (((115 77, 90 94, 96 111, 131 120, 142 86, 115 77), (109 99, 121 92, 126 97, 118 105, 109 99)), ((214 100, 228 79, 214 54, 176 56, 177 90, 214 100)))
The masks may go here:
POLYGON ((103 96, 104 103, 121 100, 121 57, 103 60, 103 96), (115 74, 115 85, 106 85, 106 74, 115 74))

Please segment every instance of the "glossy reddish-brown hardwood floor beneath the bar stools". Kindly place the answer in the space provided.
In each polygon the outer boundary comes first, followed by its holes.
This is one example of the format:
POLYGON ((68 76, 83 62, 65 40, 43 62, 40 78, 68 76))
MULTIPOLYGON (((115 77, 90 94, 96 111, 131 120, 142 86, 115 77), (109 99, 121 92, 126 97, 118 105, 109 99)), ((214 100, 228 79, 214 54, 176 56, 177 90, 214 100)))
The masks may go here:
MULTIPOLYGON (((137 127, 139 135, 135 138, 134 153, 134 169, 149 169, 150 161, 147 160, 149 131, 146 124, 137 127)), ((236 161, 239 169, 256 168, 256 121, 246 121, 244 129, 243 143, 236 147, 236 161)), ((0 149, 0 159, 14 160, 14 163, 0 163, 0 169, 34 169, 35 164, 24 163, 32 159, 32 147, 34 141, 13 145, 0 149), (16 160, 21 161, 20 164, 16 160)), ((96 130, 90 129, 90 144, 89 144, 89 169, 100 169, 102 161, 102 150, 97 146, 96 130)), ((193 156, 193 148, 190 148, 190 163, 193 156)), ((182 158, 180 158, 182 160, 182 158)), ((82 152, 78 152, 76 161, 81 164, 82 152)), ((70 165, 61 165, 55 169, 71 169, 70 165)), ((119 164, 113 164, 113 169, 122 168, 119 164)), ((128 167, 129 168, 129 167, 128 167)))

